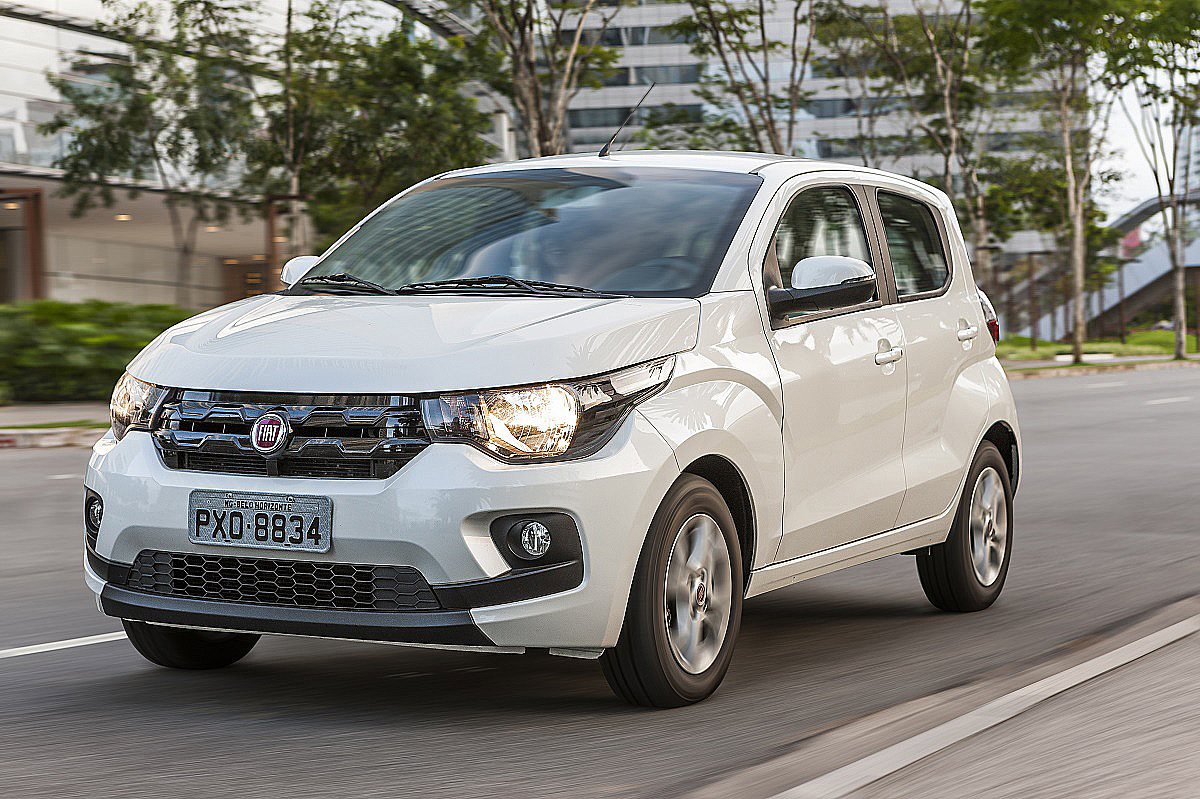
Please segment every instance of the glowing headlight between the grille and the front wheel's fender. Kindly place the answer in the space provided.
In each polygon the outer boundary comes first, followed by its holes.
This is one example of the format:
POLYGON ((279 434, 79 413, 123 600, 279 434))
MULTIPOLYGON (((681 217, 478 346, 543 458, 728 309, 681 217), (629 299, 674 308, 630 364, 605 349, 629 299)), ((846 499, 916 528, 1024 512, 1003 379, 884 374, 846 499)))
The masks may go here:
POLYGON ((666 385, 674 356, 565 383, 421 401, 434 441, 464 441, 509 462, 584 457, 638 402, 666 385))

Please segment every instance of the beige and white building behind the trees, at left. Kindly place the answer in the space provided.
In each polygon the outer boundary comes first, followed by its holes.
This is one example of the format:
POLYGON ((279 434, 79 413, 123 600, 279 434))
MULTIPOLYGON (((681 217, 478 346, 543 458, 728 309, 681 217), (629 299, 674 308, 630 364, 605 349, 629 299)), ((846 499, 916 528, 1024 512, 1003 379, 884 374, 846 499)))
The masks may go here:
MULTIPOLYGON (((304 1, 295 0, 296 7, 304 1)), ((266 31, 283 30, 287 5, 258 4, 266 31)), ((433 23, 428 5, 379 0, 372 7, 374 24, 403 18, 418 36, 455 32, 444 28, 452 18, 433 23)), ((114 205, 72 214, 74 200, 61 196, 61 173, 54 168, 65 138, 38 127, 66 108, 49 76, 102 88, 102 76, 86 64, 121 58, 125 46, 98 24, 107 16, 101 0, 0 2, 0 304, 38 298, 173 304, 186 296, 188 306, 203 308, 272 290, 287 241, 268 224, 263 203, 199 227, 182 293, 160 186, 130 186, 136 196, 120 190, 114 205)), ((493 119, 488 138, 498 157, 511 157, 508 116, 493 119)), ((190 211, 184 214, 187 221, 190 211)))

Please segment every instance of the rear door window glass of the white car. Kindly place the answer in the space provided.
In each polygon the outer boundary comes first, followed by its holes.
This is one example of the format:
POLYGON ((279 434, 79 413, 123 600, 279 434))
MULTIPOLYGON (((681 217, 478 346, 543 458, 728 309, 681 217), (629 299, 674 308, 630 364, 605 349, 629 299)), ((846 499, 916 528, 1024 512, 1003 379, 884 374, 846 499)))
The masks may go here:
POLYGON ((920 200, 880 192, 883 233, 896 278, 896 294, 936 292, 950 278, 942 234, 934 214, 920 200))

